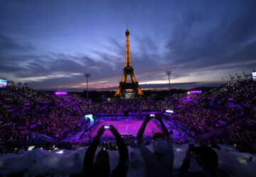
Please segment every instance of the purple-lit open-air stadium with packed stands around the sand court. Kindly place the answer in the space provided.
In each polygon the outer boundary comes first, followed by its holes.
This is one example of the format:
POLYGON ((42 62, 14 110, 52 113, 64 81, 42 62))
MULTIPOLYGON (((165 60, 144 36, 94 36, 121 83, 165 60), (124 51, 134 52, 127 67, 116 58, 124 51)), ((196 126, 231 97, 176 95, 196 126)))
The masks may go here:
MULTIPOLYGON (((135 170, 137 163, 142 163, 137 132, 149 114, 160 115, 164 120, 174 143, 174 168, 181 164, 188 144, 208 144, 218 153, 220 166, 230 176, 235 176, 233 171, 251 176, 255 164, 250 158, 255 158, 256 151, 255 88, 256 81, 250 78, 230 81, 206 92, 176 94, 162 101, 120 98, 93 102, 86 101, 81 93, 56 95, 23 86, 6 86, 0 90, 4 108, 1 173, 80 173, 84 153, 100 127, 113 125, 129 149, 129 168, 134 169, 129 169, 128 174, 142 175, 143 171, 135 170), (23 160, 31 164, 21 163, 23 160), (235 170, 236 165, 246 166, 250 171, 235 170), (68 169, 60 171, 60 166, 68 169)), ((161 125, 151 118, 144 132, 144 144, 151 149, 157 132, 162 132, 161 125)), ((117 143, 110 130, 102 135, 99 148, 110 150, 110 156, 114 156, 111 163, 117 164, 117 143)))

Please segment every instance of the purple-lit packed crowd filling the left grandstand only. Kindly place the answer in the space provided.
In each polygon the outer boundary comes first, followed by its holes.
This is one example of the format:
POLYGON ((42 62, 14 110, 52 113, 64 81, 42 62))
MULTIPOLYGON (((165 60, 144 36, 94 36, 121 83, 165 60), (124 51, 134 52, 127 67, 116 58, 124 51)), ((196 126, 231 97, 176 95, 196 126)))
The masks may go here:
MULTIPOLYGON (((77 96, 76 96, 77 97, 77 96)), ((75 98, 76 98, 75 97, 75 98)), ((31 132, 62 138, 86 122, 71 96, 23 87, 0 90, 0 141, 28 141, 31 132)))

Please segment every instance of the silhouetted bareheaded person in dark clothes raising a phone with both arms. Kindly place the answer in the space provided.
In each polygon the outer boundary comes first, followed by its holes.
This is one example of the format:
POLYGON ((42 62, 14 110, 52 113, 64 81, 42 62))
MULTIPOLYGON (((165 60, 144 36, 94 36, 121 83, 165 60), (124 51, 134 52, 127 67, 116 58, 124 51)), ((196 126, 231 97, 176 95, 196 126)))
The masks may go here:
POLYGON ((90 144, 90 147, 88 147, 87 152, 85 153, 83 164, 84 176, 127 176, 129 164, 127 146, 114 126, 110 125, 110 131, 117 141, 119 164, 114 170, 112 170, 112 173, 110 173, 110 157, 108 152, 104 149, 97 154, 95 164, 93 164, 95 152, 98 144, 100 143, 100 137, 105 132, 105 128, 102 126, 100 127, 100 130, 98 130, 96 137, 93 139, 92 144, 90 144))

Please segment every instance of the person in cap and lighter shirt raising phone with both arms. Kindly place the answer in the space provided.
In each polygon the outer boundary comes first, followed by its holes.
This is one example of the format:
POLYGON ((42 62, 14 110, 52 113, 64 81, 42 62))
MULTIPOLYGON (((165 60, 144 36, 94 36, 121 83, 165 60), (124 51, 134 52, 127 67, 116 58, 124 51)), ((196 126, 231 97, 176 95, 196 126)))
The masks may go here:
POLYGON ((174 149, 171 144, 169 132, 167 131, 163 120, 161 120, 158 115, 156 115, 156 120, 159 120, 164 135, 162 133, 154 134, 154 152, 147 149, 143 143, 142 136, 149 120, 149 115, 146 115, 142 127, 140 127, 137 134, 139 151, 142 154, 146 167, 145 176, 172 176, 174 149))

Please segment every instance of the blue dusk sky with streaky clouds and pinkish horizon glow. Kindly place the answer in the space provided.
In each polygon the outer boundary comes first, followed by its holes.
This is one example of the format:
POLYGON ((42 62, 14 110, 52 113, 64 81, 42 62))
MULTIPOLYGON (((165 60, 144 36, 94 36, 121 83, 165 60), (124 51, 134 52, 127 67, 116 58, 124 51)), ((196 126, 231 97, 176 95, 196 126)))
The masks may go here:
POLYGON ((256 1, 0 0, 0 77, 34 89, 117 89, 130 32, 142 89, 213 86, 256 69, 256 1), (145 85, 149 84, 149 85, 145 85))

